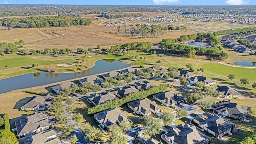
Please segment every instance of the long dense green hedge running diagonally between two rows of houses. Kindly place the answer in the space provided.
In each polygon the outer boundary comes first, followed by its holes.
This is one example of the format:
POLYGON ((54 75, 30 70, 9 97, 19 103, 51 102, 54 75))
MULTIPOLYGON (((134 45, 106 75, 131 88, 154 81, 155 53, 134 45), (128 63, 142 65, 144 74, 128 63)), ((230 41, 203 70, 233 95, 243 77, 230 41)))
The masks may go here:
POLYGON ((141 98, 146 98, 152 94, 156 94, 159 92, 166 91, 167 84, 160 84, 159 86, 154 86, 153 88, 150 88, 149 90, 143 90, 139 92, 134 92, 131 94, 128 94, 128 96, 116 100, 111 100, 109 102, 106 102, 104 105, 97 105, 92 108, 88 108, 88 114, 95 114, 96 112, 101 112, 103 110, 108 110, 111 108, 116 108, 117 106, 122 106, 123 104, 127 102, 132 102, 134 100, 138 100, 141 98))

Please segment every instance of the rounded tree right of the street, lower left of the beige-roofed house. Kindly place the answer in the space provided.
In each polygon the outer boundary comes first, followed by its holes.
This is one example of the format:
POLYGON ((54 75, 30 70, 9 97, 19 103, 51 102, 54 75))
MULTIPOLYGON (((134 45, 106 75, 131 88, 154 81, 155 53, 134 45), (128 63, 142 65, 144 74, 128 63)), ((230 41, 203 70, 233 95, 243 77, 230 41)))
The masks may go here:
POLYGON ((101 130, 91 125, 88 127, 88 130, 86 130, 86 135, 84 136, 85 139, 88 139, 91 142, 94 142, 95 140, 100 140, 101 137, 101 130))

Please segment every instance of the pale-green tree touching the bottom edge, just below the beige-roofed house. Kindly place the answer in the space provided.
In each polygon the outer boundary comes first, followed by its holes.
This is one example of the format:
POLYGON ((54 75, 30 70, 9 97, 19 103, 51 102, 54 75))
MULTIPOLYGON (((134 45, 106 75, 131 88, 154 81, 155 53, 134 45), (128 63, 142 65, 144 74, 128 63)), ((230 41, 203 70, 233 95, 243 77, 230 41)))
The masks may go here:
POLYGON ((109 142, 111 142, 111 144, 126 144, 127 143, 128 138, 124 135, 120 126, 118 126, 116 124, 112 124, 112 125, 108 126, 108 132, 110 135, 109 142))

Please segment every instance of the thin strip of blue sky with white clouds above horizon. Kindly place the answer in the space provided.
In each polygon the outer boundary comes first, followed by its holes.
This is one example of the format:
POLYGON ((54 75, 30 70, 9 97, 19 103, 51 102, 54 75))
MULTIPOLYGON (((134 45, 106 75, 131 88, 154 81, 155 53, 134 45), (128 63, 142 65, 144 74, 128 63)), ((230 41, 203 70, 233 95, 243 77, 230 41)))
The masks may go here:
POLYGON ((256 0, 0 0, 0 4, 256 5, 256 0))

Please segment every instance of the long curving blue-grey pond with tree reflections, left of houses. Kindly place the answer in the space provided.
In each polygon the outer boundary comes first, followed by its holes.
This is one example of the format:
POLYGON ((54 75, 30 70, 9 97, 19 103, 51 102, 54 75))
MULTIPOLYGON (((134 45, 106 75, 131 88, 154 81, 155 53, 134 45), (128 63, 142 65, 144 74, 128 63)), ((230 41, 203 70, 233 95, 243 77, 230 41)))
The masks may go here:
POLYGON ((129 66, 130 64, 123 63, 119 60, 105 59, 105 60, 96 61, 95 65, 92 68, 82 72, 71 72, 71 73, 37 72, 37 73, 23 74, 20 76, 14 76, 11 78, 0 80, 0 93, 5 93, 11 90, 17 90, 22 88, 42 86, 45 84, 61 82, 64 80, 71 80, 74 78, 81 78, 84 76, 100 74, 103 72, 110 72, 113 70, 127 68, 129 66))

